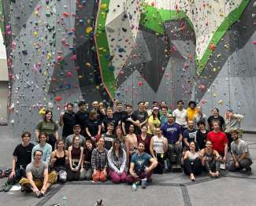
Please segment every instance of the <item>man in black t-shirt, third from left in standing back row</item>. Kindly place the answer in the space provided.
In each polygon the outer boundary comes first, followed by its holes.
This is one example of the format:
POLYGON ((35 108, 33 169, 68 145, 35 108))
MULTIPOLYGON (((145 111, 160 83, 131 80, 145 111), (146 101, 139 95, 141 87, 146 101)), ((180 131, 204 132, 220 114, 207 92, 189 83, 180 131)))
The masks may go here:
POLYGON ((85 127, 88 120, 88 112, 87 112, 87 105, 85 101, 80 101, 78 103, 79 111, 76 112, 76 124, 80 125, 81 134, 84 135, 85 127))

